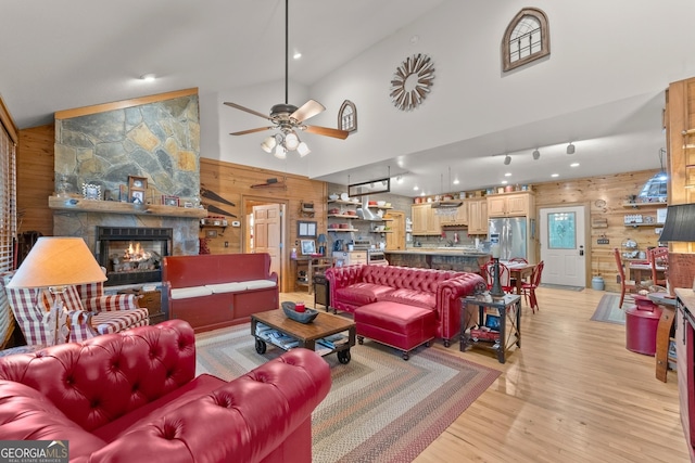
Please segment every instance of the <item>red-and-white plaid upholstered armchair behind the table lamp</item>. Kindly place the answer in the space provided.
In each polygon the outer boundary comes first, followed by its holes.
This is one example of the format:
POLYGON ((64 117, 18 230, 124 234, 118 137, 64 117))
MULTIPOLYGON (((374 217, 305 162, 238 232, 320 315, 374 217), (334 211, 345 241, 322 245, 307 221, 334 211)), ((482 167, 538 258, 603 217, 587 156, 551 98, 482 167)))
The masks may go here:
MULTIPOLYGON (((3 286, 11 279, 12 273, 5 274, 3 286)), ((138 307, 137 296, 104 296, 103 283, 71 285, 60 294, 52 294, 46 288, 3 288, 29 346, 83 342, 100 334, 150 323, 148 310, 138 307), (63 301, 63 312, 59 318, 59 339, 54 342, 55 326, 48 320, 56 297, 63 301)))

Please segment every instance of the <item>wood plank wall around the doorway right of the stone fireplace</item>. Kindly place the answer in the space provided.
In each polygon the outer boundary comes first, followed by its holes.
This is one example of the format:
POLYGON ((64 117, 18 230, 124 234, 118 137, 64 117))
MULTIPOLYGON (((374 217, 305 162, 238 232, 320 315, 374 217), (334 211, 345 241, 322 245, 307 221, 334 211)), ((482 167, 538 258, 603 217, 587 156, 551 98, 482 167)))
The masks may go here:
MULTIPOLYGON (((203 203, 213 204, 237 216, 236 218, 227 217, 229 227, 225 230, 217 230, 217 236, 207 240, 211 254, 233 254, 247 250, 244 242, 248 227, 247 216, 251 214, 253 205, 273 203, 286 205, 286 247, 282 261, 282 274, 286 278, 282 280, 281 291, 294 291, 295 269, 289 257, 291 248, 299 247, 296 221, 316 221, 317 233, 326 233, 327 183, 309 180, 302 176, 206 158, 201 158, 200 162, 200 183, 201 189, 213 191, 225 200, 235 203, 235 206, 225 205, 205 197, 202 197, 203 203), (287 188, 251 188, 251 185, 266 183, 267 179, 277 179, 278 183, 285 182, 287 188), (315 214, 313 217, 301 213, 302 203, 314 204, 315 214), (240 222, 240 227, 231 227, 231 222, 235 220, 240 222), (225 243, 227 243, 227 246, 225 246, 225 243)), ((214 216, 216 214, 211 213, 210 215, 214 216)), ((206 230, 215 229, 201 229, 201 237, 206 237, 206 230)))

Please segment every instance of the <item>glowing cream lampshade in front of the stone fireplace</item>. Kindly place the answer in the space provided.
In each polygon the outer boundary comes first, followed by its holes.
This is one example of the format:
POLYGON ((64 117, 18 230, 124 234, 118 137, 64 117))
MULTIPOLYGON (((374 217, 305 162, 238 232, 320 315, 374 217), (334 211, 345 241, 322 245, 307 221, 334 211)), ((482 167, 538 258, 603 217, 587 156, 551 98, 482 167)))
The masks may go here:
POLYGON ((41 236, 8 287, 50 287, 106 281, 81 237, 41 236))

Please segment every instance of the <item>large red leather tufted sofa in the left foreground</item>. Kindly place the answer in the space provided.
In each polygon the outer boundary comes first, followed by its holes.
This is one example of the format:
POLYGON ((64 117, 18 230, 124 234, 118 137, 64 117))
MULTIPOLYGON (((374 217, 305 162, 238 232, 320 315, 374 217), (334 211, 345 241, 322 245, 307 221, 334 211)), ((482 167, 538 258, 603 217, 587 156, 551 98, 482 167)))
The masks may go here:
POLYGON ((293 349, 225 382, 195 377, 170 320, 0 358, 0 439, 67 440, 71 462, 311 462, 329 366, 293 349))

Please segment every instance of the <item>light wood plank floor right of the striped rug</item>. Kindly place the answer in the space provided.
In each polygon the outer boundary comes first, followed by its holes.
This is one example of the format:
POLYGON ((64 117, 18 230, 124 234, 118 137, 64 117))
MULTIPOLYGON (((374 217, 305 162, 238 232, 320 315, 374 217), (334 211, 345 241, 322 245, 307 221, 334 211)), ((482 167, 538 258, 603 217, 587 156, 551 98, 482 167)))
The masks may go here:
MULTIPOLYGON (((675 372, 661 383, 653 357, 626 349, 623 325, 590 321, 603 294, 540 288, 505 364, 437 342, 502 374, 415 461, 687 462, 675 372)), ((305 293, 281 296, 313 307, 305 293)))

